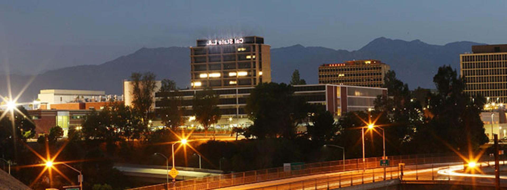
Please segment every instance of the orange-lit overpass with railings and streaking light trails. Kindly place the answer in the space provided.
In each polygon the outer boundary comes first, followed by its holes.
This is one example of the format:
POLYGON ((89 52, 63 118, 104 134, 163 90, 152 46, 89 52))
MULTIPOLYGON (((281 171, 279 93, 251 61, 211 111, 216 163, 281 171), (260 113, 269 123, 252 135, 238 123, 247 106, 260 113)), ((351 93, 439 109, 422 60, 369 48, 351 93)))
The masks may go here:
MULTIPOLYGON (((409 155, 391 157, 389 167, 380 167, 381 158, 351 159, 305 164, 304 168, 284 172, 271 168, 178 181, 173 189, 370 189, 397 184, 453 184, 491 186, 491 176, 459 173, 463 159, 456 154, 409 155), (404 163, 402 170, 399 163, 404 163)), ((486 158, 483 158, 485 160, 486 158)), ((503 164, 504 162, 502 162, 503 164)), ((490 162, 483 162, 487 168, 490 162)), ((507 178, 502 179, 507 180, 507 178)), ((503 181, 507 184, 507 181, 503 181)), ((138 187, 139 190, 164 189, 165 184, 138 187)), ((506 186, 507 187, 507 186, 506 186)))

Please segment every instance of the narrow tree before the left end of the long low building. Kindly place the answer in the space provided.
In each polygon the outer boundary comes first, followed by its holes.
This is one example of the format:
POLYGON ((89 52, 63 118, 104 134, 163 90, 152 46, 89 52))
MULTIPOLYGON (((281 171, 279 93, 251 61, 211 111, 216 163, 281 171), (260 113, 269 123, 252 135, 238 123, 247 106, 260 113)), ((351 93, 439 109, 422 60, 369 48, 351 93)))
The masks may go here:
POLYGON ((176 89, 176 83, 168 79, 162 80, 159 93, 162 94, 163 98, 160 101, 157 115, 167 128, 175 131, 178 126, 184 123, 182 97, 176 89))

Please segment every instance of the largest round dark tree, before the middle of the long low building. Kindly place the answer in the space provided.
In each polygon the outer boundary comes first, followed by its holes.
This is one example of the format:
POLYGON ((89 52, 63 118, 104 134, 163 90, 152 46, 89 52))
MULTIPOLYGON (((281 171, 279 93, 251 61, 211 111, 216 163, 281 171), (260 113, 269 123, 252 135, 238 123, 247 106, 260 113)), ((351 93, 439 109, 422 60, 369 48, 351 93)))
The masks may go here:
POLYGON ((309 112, 306 101, 294 96, 294 88, 283 83, 257 85, 251 91, 245 109, 253 121, 247 131, 257 138, 291 139, 296 135, 296 126, 309 112))

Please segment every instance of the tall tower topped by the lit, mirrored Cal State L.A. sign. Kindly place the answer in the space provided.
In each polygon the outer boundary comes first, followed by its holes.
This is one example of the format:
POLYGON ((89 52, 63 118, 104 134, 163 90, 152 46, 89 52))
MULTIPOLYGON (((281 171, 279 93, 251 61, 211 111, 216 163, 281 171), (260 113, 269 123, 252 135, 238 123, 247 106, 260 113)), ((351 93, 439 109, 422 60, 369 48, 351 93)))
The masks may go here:
POLYGON ((270 48, 259 36, 197 40, 190 48, 192 89, 271 82, 270 48))

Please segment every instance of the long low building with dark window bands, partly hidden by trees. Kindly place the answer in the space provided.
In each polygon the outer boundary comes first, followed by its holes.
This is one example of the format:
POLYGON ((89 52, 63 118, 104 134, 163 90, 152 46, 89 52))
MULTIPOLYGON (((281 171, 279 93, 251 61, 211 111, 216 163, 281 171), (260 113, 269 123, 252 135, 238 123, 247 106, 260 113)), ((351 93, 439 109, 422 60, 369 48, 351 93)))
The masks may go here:
MULTIPOLYGON (((216 126, 218 127, 247 127, 253 124, 245 111, 246 99, 250 95, 250 91, 255 87, 241 88, 218 88, 213 89, 219 95, 218 107, 222 113, 221 120, 216 126)), ((303 96, 308 103, 321 105, 326 110, 333 113, 336 117, 341 116, 347 111, 371 110, 374 108, 374 100, 378 95, 387 95, 385 88, 356 87, 345 85, 295 85, 295 95, 303 96)), ((192 104, 196 92, 202 89, 179 90, 182 96, 182 105, 185 107, 185 118, 187 126, 199 125, 192 121, 192 104)), ((163 97, 167 97, 167 93, 156 93, 155 109, 161 103, 163 97)))

